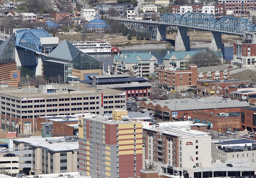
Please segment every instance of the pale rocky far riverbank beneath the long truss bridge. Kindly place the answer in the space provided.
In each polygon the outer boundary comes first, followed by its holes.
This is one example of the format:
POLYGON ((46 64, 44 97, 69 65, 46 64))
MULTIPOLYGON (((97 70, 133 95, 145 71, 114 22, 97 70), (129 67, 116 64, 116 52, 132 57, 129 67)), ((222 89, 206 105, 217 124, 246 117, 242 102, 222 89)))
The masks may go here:
MULTIPOLYGON (((190 41, 190 48, 202 48, 204 46, 205 48, 210 47, 210 43, 202 42, 202 41, 190 41)), ((225 47, 232 47, 233 41, 224 43, 225 47)), ((127 45, 127 46, 117 46, 120 50, 154 50, 154 49, 174 49, 174 46, 171 45, 171 43, 160 43, 160 44, 135 44, 135 45, 127 45)))

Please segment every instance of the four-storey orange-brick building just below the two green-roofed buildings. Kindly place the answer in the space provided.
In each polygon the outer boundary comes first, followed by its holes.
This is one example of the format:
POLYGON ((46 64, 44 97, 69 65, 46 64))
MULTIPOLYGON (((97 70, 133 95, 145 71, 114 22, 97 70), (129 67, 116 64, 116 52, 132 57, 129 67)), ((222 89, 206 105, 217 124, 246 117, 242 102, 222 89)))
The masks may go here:
POLYGON ((188 89, 189 86, 196 85, 196 73, 196 65, 188 66, 187 70, 179 70, 175 68, 158 69, 158 82, 162 84, 165 89, 188 89))

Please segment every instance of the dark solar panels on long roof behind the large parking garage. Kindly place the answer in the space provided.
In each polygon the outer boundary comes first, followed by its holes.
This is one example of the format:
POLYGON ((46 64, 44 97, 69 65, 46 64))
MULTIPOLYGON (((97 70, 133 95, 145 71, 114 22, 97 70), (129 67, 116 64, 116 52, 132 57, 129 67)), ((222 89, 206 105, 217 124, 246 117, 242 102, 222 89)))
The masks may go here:
MULTIPOLYGON (((100 84, 117 84, 117 83, 130 83, 133 81, 139 81, 139 82, 146 82, 147 80, 144 79, 143 77, 138 77, 138 78, 114 78, 114 79, 100 79, 100 80, 96 80, 97 83, 100 84)), ((89 83, 92 84, 92 80, 83 80, 80 81, 81 83, 89 83)))

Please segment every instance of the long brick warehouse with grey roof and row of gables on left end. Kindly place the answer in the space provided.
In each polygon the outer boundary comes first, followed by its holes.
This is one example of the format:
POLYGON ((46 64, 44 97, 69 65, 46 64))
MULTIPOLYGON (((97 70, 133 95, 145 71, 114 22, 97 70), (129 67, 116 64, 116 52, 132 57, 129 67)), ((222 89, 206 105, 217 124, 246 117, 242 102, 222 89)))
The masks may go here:
POLYGON ((142 101, 140 110, 150 111, 156 118, 169 120, 189 119, 193 111, 206 113, 240 112, 241 107, 250 107, 246 101, 239 102, 222 97, 185 98, 173 100, 161 100, 161 102, 142 101))

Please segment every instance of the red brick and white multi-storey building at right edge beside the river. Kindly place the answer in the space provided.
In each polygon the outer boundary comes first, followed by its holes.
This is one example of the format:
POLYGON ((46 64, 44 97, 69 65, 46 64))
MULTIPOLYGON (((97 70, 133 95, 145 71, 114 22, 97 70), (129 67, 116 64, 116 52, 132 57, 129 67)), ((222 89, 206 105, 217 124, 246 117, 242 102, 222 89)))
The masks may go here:
MULTIPOLYGON (((255 2, 256 4, 256 2, 255 2)), ((242 43, 234 43, 234 54, 232 65, 235 66, 254 66, 256 58, 256 32, 244 32, 244 41, 242 43)))

